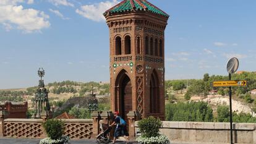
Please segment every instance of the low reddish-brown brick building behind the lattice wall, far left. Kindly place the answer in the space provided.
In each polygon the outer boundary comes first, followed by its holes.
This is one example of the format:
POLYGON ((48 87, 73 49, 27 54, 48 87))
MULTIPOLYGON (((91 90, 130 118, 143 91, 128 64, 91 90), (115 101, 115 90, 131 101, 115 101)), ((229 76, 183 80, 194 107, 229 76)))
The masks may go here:
POLYGON ((11 102, 6 101, 0 103, 0 111, 9 112, 8 118, 11 119, 26 119, 26 113, 28 111, 28 102, 11 102))

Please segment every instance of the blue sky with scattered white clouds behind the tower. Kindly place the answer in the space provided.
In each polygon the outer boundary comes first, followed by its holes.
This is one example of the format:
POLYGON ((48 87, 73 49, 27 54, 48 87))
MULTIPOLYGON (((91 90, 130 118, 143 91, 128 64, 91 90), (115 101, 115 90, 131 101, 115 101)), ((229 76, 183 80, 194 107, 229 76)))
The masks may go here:
MULTIPOLYGON (((166 80, 256 71, 255 0, 149 0, 170 15, 166 80)), ((117 0, 1 0, 0 89, 45 82, 109 81, 109 33, 101 15, 117 0)))

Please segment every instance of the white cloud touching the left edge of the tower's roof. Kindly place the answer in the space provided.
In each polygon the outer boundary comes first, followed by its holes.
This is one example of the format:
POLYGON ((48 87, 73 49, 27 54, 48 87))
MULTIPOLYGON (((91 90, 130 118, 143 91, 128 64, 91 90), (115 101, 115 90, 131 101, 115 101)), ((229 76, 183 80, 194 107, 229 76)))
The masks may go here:
POLYGON ((96 22, 105 21, 103 13, 118 3, 119 2, 117 0, 113 0, 100 2, 92 5, 84 5, 81 6, 80 9, 77 9, 75 12, 77 12, 77 14, 80 14, 87 19, 96 22))

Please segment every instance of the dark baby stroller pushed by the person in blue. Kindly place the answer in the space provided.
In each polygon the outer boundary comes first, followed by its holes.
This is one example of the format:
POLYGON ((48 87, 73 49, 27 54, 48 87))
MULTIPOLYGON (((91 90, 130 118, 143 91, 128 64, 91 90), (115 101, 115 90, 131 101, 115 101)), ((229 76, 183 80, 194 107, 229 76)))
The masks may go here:
POLYGON ((97 143, 110 143, 108 133, 111 130, 111 127, 108 124, 100 124, 101 133, 97 135, 96 142, 97 143))

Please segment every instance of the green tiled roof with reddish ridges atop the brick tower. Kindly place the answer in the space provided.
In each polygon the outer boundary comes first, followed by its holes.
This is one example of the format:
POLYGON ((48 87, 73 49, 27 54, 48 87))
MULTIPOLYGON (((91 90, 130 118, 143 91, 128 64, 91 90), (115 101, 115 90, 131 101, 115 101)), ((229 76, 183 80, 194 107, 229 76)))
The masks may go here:
POLYGON ((164 17, 169 17, 164 11, 161 11, 158 7, 154 6, 147 0, 124 0, 112 7, 104 13, 121 13, 127 11, 148 11, 154 14, 163 15, 164 17))

